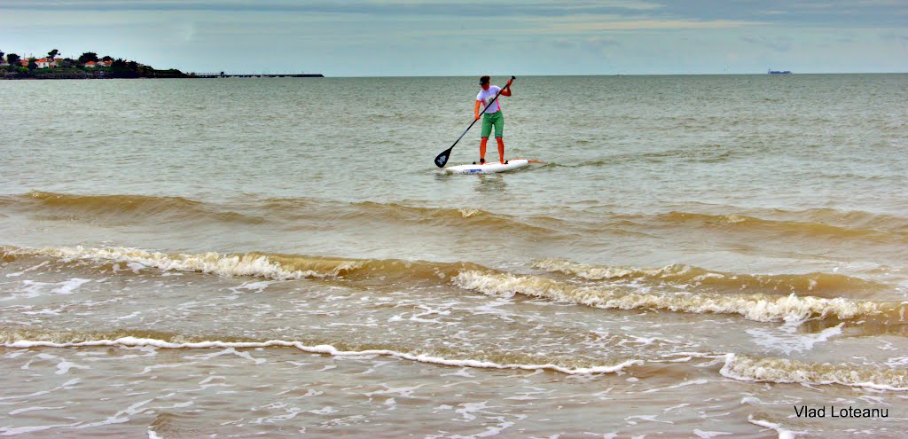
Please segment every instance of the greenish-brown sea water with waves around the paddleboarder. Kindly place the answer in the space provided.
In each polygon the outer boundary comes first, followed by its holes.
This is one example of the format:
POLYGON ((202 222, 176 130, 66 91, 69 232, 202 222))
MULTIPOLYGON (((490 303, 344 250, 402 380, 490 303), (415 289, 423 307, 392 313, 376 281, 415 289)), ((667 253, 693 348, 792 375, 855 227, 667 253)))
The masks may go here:
POLYGON ((0 435, 903 437, 908 75, 477 90, 0 81, 0 435))

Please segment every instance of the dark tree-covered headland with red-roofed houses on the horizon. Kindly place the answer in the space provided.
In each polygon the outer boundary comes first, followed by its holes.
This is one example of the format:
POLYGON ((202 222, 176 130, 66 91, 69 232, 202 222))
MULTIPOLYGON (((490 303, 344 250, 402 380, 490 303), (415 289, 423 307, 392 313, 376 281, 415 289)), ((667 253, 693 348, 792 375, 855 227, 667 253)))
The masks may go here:
POLYGON ((0 50, 0 60, 5 60, 7 65, 0 67, 4 77, 12 78, 80 78, 80 77, 110 77, 110 78, 151 78, 151 77, 188 77, 189 75, 177 69, 157 70, 151 65, 143 65, 135 61, 126 61, 123 58, 111 56, 99 57, 94 52, 85 52, 78 58, 57 58, 57 49, 47 53, 47 67, 38 65, 38 58, 22 58, 17 54, 5 54, 0 50), (24 63, 23 61, 27 61, 24 63), (103 63, 103 64, 97 64, 103 63), (88 66, 86 66, 88 65, 88 66))

